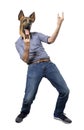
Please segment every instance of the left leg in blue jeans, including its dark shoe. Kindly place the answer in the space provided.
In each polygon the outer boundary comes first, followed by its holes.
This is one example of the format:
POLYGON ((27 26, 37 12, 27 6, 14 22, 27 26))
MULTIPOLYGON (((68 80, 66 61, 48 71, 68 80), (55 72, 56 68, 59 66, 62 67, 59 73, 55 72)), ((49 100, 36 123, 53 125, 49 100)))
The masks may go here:
POLYGON ((39 83, 42 79, 42 70, 38 65, 33 64, 28 68, 25 95, 20 114, 16 118, 16 122, 20 123, 29 114, 30 107, 35 99, 39 83))

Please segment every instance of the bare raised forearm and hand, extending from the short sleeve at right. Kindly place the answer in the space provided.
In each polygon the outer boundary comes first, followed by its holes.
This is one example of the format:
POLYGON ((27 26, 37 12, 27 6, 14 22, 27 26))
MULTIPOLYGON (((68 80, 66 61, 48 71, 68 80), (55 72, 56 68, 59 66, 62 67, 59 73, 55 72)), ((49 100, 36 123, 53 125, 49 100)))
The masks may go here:
POLYGON ((57 38, 63 20, 64 20, 64 13, 62 13, 61 17, 58 14, 57 15, 57 27, 56 27, 54 33, 48 38, 48 43, 50 43, 50 44, 53 43, 55 41, 55 39, 57 38))

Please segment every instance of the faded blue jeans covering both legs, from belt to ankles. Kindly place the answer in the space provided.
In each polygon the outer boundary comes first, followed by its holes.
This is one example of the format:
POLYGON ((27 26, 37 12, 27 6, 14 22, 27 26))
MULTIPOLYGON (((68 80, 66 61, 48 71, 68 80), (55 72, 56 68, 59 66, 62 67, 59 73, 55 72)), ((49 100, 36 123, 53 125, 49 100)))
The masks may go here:
POLYGON ((30 112, 31 104, 35 99, 39 83, 43 77, 47 78, 59 93, 54 111, 54 116, 58 116, 64 111, 69 96, 69 89, 58 68, 51 61, 29 65, 21 112, 26 114, 30 112))

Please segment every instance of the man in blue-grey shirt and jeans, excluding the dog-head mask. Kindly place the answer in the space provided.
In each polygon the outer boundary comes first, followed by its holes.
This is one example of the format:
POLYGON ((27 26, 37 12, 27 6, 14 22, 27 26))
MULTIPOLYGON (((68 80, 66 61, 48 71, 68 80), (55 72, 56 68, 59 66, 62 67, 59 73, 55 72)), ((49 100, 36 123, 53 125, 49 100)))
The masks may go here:
POLYGON ((30 37, 30 39, 20 37, 16 42, 16 49, 19 52, 21 59, 29 65, 21 112, 15 120, 17 123, 22 122, 23 119, 29 114, 31 104, 35 99, 39 83, 43 77, 47 78, 59 93, 54 111, 54 117, 65 123, 72 122, 64 114, 64 108, 69 96, 69 89, 58 68, 50 61, 50 57, 42 46, 42 42, 51 44, 56 40, 63 20, 64 14, 62 13, 62 17, 58 14, 57 27, 51 36, 46 36, 38 32, 30 32, 30 28, 27 28, 24 29, 24 32, 28 37, 30 37), (24 45, 29 42, 29 52, 27 52, 29 53, 29 59, 27 59, 28 57, 26 58, 25 56, 24 45))

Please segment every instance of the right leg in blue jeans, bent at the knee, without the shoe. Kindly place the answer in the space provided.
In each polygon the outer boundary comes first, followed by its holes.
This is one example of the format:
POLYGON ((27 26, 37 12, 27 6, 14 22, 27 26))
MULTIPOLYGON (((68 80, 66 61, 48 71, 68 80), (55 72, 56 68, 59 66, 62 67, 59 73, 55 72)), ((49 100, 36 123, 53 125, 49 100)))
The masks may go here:
POLYGON ((57 89, 59 92, 59 96, 56 103, 56 108, 54 111, 54 116, 58 116, 63 113, 65 104, 68 100, 69 96, 69 89, 60 74, 59 70, 57 69, 56 65, 52 62, 49 63, 46 69, 46 78, 52 83, 52 85, 57 89))

